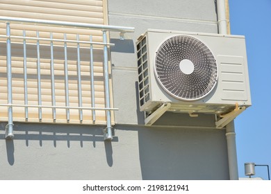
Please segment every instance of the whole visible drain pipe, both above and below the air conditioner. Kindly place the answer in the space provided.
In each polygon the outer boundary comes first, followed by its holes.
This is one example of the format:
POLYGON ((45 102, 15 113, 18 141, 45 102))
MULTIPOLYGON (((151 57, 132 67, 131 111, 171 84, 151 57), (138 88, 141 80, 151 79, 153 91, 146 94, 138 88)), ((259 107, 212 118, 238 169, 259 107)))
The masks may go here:
MULTIPOLYGON (((227 17, 225 0, 217 0, 217 26, 218 33, 227 35, 227 17)), ((234 121, 226 125, 228 160, 229 160, 229 179, 238 180, 238 165, 236 153, 236 133, 234 121)))

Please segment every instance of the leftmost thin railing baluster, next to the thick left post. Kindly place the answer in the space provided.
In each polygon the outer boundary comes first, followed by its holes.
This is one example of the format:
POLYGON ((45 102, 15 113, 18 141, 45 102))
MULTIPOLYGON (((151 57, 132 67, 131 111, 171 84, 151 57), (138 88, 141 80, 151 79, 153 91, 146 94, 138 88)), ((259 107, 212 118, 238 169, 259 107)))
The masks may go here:
MULTIPOLYGON (((24 105, 28 105, 28 91, 27 91, 27 67, 26 67, 26 30, 23 30, 24 36, 24 105)), ((28 107, 24 108, 24 115, 26 121, 28 120, 28 107)))

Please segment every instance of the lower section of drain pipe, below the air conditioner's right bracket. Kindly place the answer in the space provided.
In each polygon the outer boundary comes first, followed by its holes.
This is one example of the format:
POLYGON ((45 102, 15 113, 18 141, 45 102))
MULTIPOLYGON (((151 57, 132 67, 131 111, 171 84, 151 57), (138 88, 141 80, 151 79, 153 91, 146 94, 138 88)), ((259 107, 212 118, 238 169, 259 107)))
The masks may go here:
POLYGON ((236 153, 236 133, 234 121, 226 125, 228 161, 229 161, 229 179, 238 180, 238 166, 236 153))

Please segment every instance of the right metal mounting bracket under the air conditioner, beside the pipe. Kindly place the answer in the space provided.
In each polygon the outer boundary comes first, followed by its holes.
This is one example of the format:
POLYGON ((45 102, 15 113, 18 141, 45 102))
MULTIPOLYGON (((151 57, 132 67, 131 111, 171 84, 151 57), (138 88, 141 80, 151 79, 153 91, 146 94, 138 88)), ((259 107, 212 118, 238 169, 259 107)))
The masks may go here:
POLYGON ((222 117, 219 121, 215 122, 215 127, 217 129, 222 129, 224 126, 226 126, 228 123, 233 121, 236 116, 241 114, 245 110, 245 107, 239 107, 238 104, 236 104, 236 108, 233 109, 233 111, 227 113, 227 114, 222 114, 220 117, 222 117))

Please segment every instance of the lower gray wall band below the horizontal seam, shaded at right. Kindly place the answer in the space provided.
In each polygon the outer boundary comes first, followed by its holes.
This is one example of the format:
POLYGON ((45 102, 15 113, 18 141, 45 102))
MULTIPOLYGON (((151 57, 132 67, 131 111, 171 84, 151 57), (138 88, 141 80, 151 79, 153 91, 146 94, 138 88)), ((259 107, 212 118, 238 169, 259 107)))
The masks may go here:
POLYGON ((0 179, 229 179, 223 130, 1 123, 0 179))

